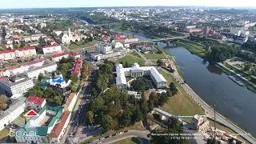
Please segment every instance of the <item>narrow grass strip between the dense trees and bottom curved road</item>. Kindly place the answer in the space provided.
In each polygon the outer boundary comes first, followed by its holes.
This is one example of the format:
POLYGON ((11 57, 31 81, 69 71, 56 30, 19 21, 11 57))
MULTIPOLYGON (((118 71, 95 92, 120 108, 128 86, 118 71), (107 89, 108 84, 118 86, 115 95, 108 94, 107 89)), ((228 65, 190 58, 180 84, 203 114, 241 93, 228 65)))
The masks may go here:
POLYGON ((134 126, 125 127, 123 129, 119 129, 119 130, 109 130, 105 134, 98 135, 98 136, 93 137, 93 138, 89 138, 89 139, 87 139, 86 141, 84 141, 82 143, 92 142, 92 141, 95 141, 99 138, 106 137, 108 135, 118 134, 119 132, 123 132, 125 130, 146 130, 146 129, 144 128, 144 126, 142 126, 142 122, 135 122, 134 126))

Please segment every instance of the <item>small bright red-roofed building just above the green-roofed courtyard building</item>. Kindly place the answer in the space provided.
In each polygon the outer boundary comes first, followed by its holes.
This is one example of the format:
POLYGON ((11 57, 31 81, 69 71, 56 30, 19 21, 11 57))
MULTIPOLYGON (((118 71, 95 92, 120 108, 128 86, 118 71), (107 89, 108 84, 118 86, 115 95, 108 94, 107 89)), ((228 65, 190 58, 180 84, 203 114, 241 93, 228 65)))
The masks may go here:
POLYGON ((35 111, 40 111, 46 105, 46 98, 31 95, 26 99, 26 106, 35 111))

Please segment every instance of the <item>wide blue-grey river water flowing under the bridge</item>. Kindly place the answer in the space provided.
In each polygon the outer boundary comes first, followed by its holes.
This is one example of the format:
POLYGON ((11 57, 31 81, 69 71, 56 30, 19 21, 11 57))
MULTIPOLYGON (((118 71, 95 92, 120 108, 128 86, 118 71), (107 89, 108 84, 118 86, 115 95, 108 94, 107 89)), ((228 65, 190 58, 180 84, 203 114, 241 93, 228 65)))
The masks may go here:
MULTIPOLYGON (((134 36, 146 39, 141 34, 134 34, 134 36)), ((166 46, 162 42, 158 42, 158 45, 166 46)), ((220 114, 230 118, 250 134, 256 135, 256 125, 254 125, 256 94, 254 92, 247 90, 246 87, 238 86, 222 70, 191 54, 184 47, 167 48, 166 51, 175 56, 183 78, 198 96, 209 105, 216 105, 215 108, 220 114)))

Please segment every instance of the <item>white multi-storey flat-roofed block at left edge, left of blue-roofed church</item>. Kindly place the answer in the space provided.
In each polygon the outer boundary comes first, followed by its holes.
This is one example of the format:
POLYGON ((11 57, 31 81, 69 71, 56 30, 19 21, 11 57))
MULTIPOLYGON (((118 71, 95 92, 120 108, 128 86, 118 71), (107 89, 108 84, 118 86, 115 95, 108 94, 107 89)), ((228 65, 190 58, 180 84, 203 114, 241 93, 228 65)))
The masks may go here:
POLYGON ((31 78, 26 78, 26 76, 20 74, 0 79, 0 88, 10 95, 24 94, 33 86, 34 83, 31 78))

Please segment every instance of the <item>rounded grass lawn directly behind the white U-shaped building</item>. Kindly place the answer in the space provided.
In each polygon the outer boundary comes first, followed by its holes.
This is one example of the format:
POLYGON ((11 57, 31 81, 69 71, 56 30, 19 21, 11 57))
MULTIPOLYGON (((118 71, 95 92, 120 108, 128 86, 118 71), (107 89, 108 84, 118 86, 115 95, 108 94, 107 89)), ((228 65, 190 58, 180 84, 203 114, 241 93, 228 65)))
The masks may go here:
POLYGON ((135 62, 137 62, 140 66, 145 65, 144 59, 138 58, 138 57, 136 57, 134 55, 130 55, 130 54, 127 54, 126 56, 116 60, 115 62, 116 63, 122 62, 123 64, 125 64, 127 62, 129 66, 133 65, 135 62))

